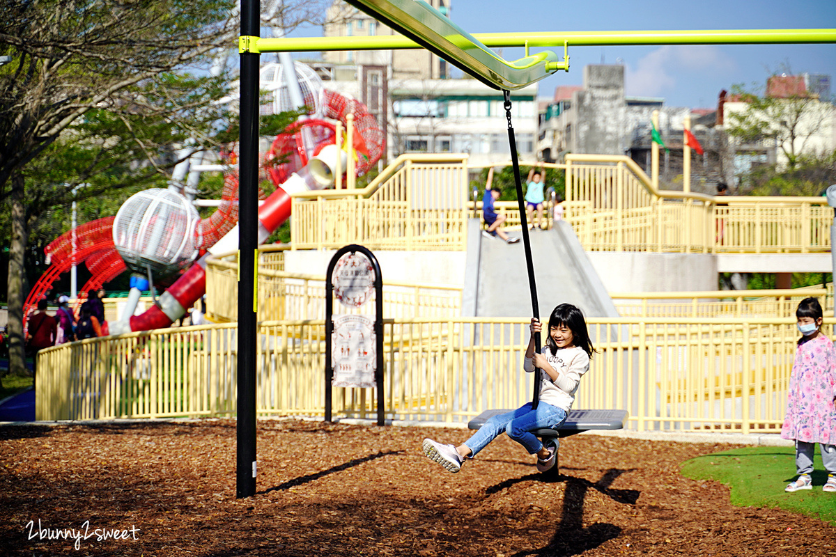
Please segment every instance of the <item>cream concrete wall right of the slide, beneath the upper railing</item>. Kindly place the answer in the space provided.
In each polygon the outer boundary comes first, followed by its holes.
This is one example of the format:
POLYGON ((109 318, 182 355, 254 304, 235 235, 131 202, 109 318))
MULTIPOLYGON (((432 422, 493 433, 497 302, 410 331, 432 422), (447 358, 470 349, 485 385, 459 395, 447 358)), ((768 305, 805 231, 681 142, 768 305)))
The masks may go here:
POLYGON ((717 260, 709 254, 587 251, 608 292, 717 290, 717 260))

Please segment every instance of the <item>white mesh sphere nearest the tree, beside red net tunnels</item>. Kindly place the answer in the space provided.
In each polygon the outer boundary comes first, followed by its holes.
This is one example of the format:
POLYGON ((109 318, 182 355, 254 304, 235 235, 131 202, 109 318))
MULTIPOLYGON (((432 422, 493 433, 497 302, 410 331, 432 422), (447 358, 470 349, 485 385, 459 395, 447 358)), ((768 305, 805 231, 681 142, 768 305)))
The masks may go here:
POLYGON ((150 268, 163 275, 185 268, 197 256, 200 215, 186 196, 168 189, 140 191, 116 212, 113 241, 133 271, 150 268))

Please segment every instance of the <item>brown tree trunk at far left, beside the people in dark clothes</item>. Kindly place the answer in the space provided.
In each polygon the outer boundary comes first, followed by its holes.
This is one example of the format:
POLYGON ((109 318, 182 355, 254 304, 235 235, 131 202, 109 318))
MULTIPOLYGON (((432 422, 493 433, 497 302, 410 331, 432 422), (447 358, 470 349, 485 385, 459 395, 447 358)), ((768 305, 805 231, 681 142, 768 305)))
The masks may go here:
POLYGON ((23 375, 26 355, 23 346, 23 253, 28 239, 26 207, 23 205, 23 175, 11 179, 12 238, 8 250, 8 370, 23 375))

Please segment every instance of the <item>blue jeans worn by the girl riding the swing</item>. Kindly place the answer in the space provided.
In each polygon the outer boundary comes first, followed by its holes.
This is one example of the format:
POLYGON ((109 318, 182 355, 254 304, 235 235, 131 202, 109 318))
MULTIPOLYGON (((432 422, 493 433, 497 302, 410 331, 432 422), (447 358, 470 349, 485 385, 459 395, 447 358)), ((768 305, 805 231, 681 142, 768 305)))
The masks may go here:
POLYGON ((485 425, 464 443, 472 451, 470 456, 475 457, 479 451, 487 447, 487 443, 491 443, 502 432, 523 445, 528 454, 537 453, 543 448, 543 443, 531 432, 540 428, 558 428, 566 420, 566 411, 547 403, 539 403, 537 410, 532 410, 531 407, 531 403, 526 403, 521 408, 488 419, 485 425))

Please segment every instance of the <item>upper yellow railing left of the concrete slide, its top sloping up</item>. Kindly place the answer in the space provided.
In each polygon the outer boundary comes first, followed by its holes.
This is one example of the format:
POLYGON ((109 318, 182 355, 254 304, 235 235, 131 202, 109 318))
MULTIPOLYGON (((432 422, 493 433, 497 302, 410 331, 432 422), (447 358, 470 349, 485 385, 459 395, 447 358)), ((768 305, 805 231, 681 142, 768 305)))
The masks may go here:
POLYGON ((463 251, 467 156, 401 155, 362 190, 293 194, 293 249, 463 251))

